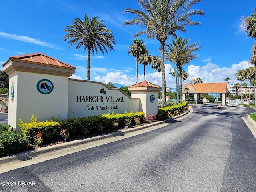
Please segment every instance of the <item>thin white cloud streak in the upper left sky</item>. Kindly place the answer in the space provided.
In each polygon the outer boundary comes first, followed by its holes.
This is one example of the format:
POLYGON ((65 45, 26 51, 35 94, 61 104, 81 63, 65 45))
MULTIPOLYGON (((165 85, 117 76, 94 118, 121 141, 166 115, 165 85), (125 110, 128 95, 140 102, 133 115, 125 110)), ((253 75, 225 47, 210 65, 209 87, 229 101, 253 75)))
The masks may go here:
POLYGON ((27 42, 27 43, 38 44, 38 45, 53 48, 53 49, 59 49, 59 48, 57 48, 56 45, 54 45, 52 43, 44 42, 44 41, 34 39, 34 38, 24 36, 24 35, 16 35, 16 34, 9 34, 9 33, 0 32, 0 36, 15 39, 15 40, 18 40, 18 41, 27 42))

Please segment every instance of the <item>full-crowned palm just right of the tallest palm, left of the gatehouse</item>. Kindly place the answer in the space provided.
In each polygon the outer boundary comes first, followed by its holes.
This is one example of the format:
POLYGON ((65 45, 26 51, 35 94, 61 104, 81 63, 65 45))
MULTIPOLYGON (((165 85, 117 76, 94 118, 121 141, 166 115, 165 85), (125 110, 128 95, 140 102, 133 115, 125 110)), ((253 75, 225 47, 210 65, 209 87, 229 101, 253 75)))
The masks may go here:
POLYGON ((182 37, 175 37, 172 39, 172 44, 166 44, 166 56, 167 59, 176 64, 176 67, 178 68, 177 72, 177 89, 178 89, 178 95, 177 99, 178 101, 182 98, 182 68, 179 66, 184 66, 188 64, 191 60, 198 57, 198 54, 195 54, 194 51, 198 51, 202 46, 197 46, 199 42, 188 44, 189 38, 185 38, 183 40, 182 37))

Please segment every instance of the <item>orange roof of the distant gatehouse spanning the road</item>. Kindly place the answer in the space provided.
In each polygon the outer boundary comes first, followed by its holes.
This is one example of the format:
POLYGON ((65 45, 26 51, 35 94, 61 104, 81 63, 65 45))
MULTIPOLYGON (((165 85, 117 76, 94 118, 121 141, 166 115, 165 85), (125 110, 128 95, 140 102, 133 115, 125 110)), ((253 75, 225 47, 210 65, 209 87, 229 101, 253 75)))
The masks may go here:
MULTIPOLYGON (((191 83, 190 83, 191 84, 191 83)), ((185 84, 186 88, 189 84, 185 84)), ((191 84, 198 93, 226 93, 227 83, 196 83, 191 84)), ((184 89, 183 89, 184 92, 184 89)), ((189 91, 188 91, 189 92, 189 91)))

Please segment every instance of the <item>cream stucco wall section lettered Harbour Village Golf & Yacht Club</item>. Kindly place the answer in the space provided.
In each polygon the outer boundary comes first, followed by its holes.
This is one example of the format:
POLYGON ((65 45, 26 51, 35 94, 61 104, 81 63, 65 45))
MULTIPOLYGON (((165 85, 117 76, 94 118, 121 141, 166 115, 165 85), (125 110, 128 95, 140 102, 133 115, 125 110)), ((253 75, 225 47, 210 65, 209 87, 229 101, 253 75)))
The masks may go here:
POLYGON ((108 88, 100 82, 86 80, 68 81, 68 118, 103 113, 140 111, 140 99, 130 98, 120 89, 108 88))

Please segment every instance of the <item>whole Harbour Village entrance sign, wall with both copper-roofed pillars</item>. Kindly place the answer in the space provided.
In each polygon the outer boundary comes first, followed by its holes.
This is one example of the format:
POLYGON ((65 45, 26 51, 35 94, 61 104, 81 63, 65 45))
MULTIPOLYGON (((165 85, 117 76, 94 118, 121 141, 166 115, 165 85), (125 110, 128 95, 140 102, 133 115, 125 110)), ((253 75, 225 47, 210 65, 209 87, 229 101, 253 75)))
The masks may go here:
POLYGON ((147 118, 157 114, 161 87, 147 81, 128 86, 129 96, 101 82, 71 79, 76 67, 40 52, 9 57, 2 66, 12 82, 8 124, 18 133, 19 119, 30 122, 33 114, 38 121, 125 111, 144 112, 147 118))

